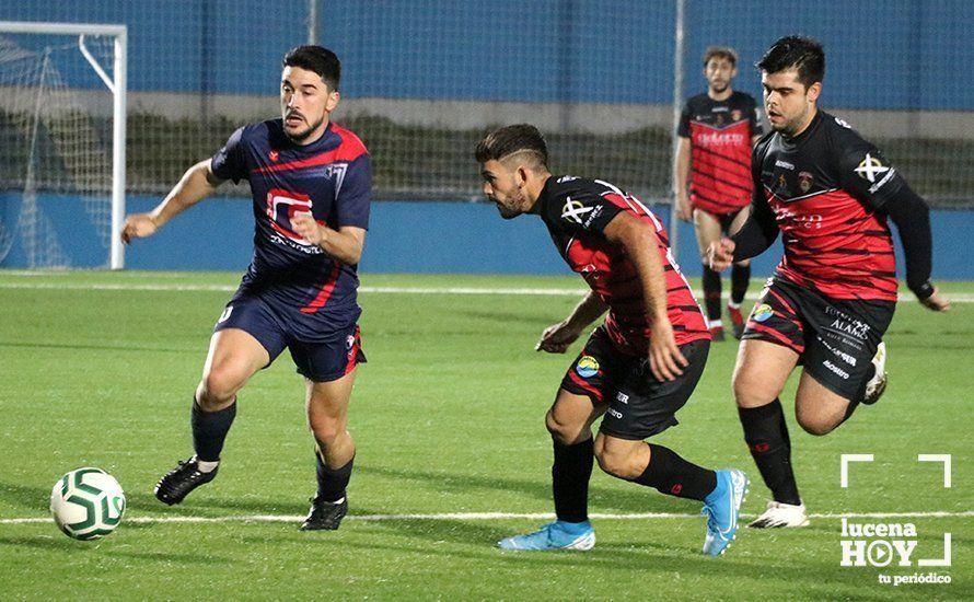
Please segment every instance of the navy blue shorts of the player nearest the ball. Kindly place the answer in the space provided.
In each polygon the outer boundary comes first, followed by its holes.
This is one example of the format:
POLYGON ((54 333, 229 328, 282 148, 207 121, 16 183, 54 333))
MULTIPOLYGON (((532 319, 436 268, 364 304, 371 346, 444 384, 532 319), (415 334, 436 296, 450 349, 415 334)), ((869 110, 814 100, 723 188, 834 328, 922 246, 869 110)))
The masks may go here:
POLYGON ((270 356, 267 366, 287 347, 298 373, 314 382, 338 380, 359 363, 366 363, 359 326, 355 322, 334 332, 321 333, 314 341, 308 341, 294 336, 294 327, 290 324, 294 319, 300 320, 300 316, 289 316, 259 297, 237 292, 227 304, 213 332, 223 328, 246 332, 267 349, 270 356))

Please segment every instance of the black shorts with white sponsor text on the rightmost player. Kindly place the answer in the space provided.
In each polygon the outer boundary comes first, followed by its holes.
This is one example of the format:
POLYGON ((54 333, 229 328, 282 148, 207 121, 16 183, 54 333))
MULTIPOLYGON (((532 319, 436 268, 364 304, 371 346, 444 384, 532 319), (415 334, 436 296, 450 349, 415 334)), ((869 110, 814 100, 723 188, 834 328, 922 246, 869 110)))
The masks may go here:
POLYGON ((742 338, 793 349, 816 381, 853 400, 895 309, 893 301, 830 299, 775 276, 761 291, 742 338))

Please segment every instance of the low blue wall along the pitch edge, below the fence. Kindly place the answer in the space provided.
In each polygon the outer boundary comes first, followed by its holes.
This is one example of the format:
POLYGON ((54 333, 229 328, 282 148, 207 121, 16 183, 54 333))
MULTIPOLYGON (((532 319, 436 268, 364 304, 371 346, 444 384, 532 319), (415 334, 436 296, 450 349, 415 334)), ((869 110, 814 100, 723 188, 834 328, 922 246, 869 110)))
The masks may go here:
MULTIPOLYGON (((0 223, 15 223, 20 196, 0 195, 0 223)), ((148 211, 156 197, 129 197, 128 211, 148 211)), ((76 266, 106 263, 107 250, 78 199, 38 198, 61 250, 76 266)), ((659 212, 666 222, 669 207, 659 212)), ((962 244, 974 232, 974 211, 935 210, 934 274, 974 280, 974 263, 962 244)), ((126 253, 132 269, 243 270, 251 258, 254 218, 250 200, 212 198, 179 216, 155 236, 136 241, 126 253)), ((687 276, 700 275, 689 224, 680 224, 680 257, 687 276)), ((897 247, 897 253, 900 252, 897 247)), ((755 275, 768 275, 781 256, 780 243, 754 261, 755 275)), ((902 253, 900 253, 902 257, 902 253)), ((23 241, 14 241, 0 267, 27 265, 23 241)), ((898 262, 902 266, 902 259, 898 262)), ((544 224, 534 216, 502 220, 484 202, 382 201, 372 218, 361 269, 372 273, 568 274, 544 224)))

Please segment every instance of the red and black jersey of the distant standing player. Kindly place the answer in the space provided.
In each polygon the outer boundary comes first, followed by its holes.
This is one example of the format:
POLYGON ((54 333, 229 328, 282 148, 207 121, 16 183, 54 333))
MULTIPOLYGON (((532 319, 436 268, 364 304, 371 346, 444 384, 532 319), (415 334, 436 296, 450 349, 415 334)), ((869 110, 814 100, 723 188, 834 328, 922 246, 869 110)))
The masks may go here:
POLYGON ((686 102, 677 136, 691 142, 691 204, 722 216, 751 202, 751 140, 762 134, 754 96, 724 101, 698 94, 686 102))

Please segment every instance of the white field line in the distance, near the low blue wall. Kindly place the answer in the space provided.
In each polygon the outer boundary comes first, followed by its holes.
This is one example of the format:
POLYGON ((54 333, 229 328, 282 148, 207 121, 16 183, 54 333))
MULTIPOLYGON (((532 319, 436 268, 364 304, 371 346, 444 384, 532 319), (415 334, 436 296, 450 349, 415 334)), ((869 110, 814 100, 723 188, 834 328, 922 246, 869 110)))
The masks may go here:
MULTIPOLYGON (((5 276, 19 276, 7 273, 5 276)), ((26 274, 25 274, 26 275, 26 274)), ((173 292, 233 292, 235 285, 166 285, 166 283, 55 283, 55 282, 0 282, 0 289, 27 290, 98 290, 98 291, 173 291, 173 292)), ((359 287, 359 292, 367 294, 502 294, 534 297, 582 297, 588 289, 582 288, 482 288, 482 287, 359 287)), ((703 291, 695 290, 697 298, 703 291)), ((974 293, 947 293, 952 303, 974 303, 974 293)), ((747 299, 756 300, 757 293, 751 292, 747 299)), ((901 302, 916 302, 912 294, 900 296, 901 302)))

